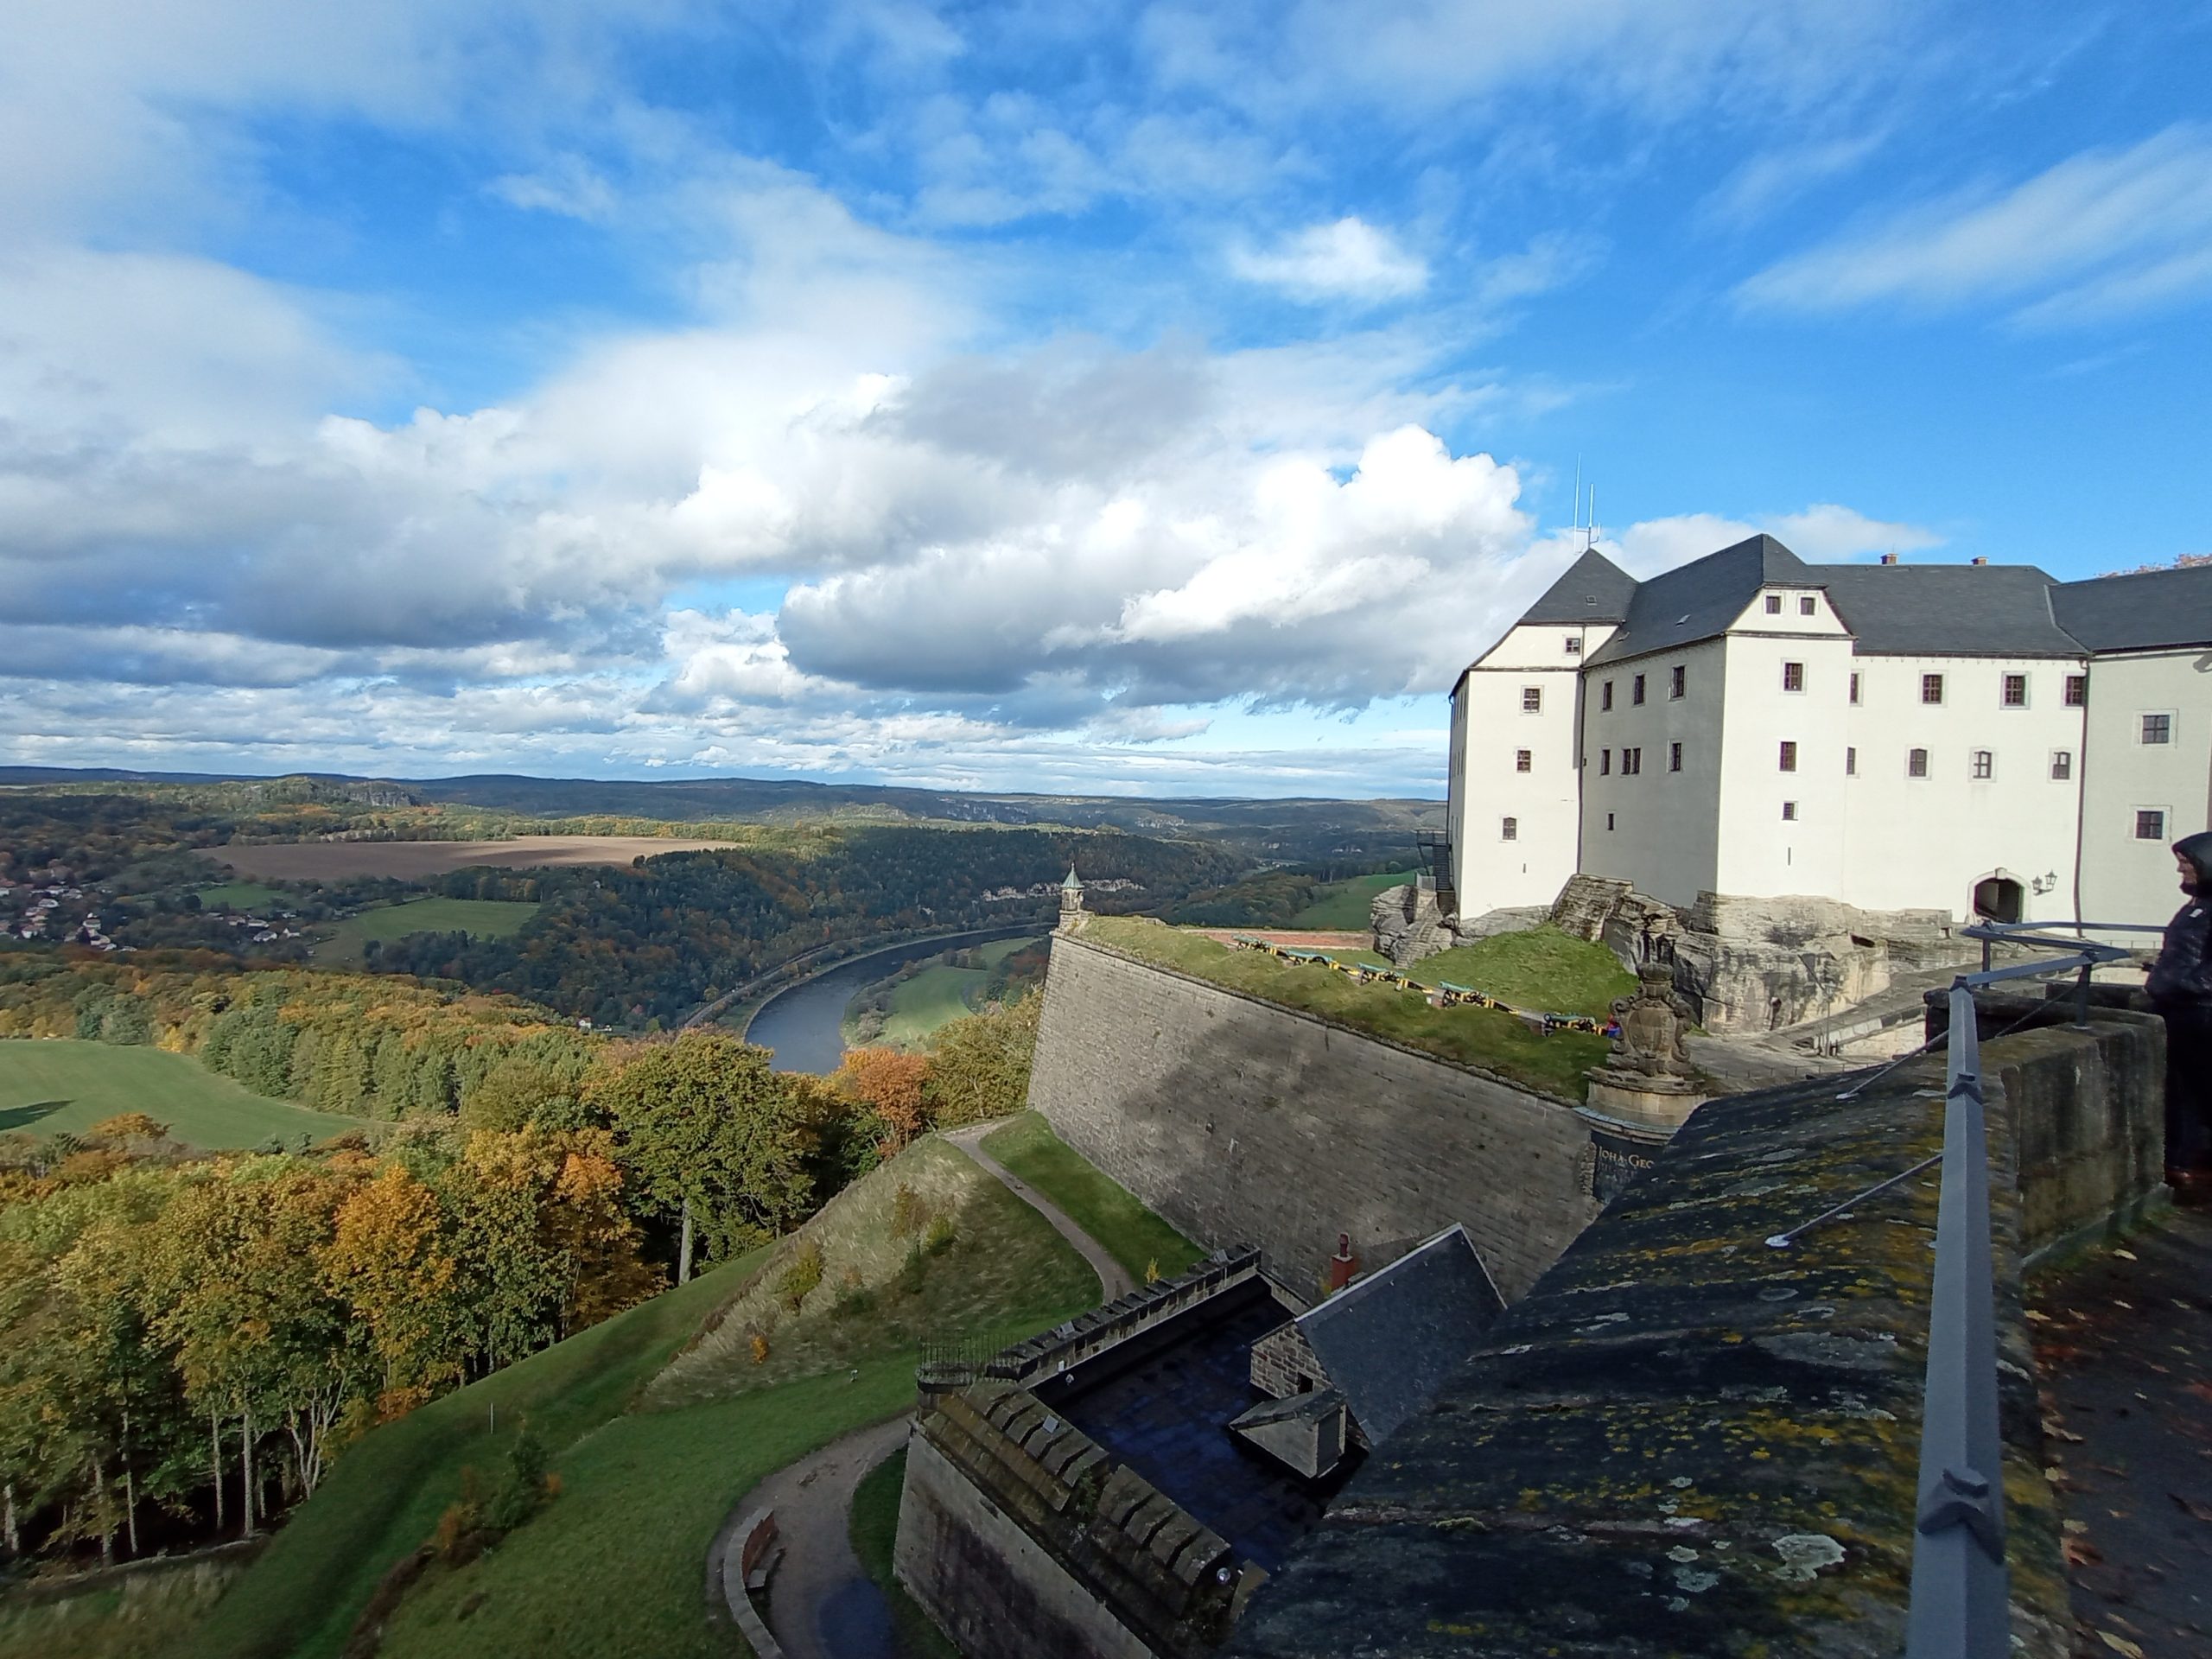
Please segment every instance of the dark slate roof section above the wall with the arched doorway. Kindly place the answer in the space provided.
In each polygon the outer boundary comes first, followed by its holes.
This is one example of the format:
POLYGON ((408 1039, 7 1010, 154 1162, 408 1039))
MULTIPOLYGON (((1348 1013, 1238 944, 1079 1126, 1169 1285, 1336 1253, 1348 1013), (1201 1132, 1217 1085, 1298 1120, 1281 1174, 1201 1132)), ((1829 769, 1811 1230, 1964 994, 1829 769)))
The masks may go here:
POLYGON ((1836 615, 1878 657, 2079 657, 2033 564, 1820 564, 1836 615))

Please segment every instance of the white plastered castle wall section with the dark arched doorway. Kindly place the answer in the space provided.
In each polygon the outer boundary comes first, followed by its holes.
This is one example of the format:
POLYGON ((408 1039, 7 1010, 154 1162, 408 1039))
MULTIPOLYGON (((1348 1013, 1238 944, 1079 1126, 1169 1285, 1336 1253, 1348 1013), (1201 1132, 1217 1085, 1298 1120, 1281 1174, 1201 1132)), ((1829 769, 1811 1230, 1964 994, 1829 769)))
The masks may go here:
POLYGON ((1849 710, 1858 774, 1847 781, 1847 847, 1838 896, 1863 909, 1942 909, 1973 916, 1973 885, 2011 876, 2024 920, 2073 916, 2079 834, 2081 710, 2066 706, 2062 657, 1856 657, 1860 701, 1849 710), (1942 703, 1920 699, 1942 675, 1942 703), (2026 675, 2028 706, 2004 706, 2004 675, 2026 675), (1927 750, 1929 774, 1909 772, 1927 750), (1989 750, 1991 776, 1973 776, 1989 750), (2073 754, 2075 779, 2053 776, 2073 754), (2042 887, 2042 891, 2037 891, 2042 887))

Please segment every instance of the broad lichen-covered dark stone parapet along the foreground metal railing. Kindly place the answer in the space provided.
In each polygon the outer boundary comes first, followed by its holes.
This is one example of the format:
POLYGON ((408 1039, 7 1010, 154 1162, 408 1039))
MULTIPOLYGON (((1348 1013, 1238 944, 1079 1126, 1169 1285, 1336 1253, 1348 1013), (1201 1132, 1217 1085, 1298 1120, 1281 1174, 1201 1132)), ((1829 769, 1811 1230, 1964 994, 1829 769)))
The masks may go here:
MULTIPOLYGON (((2070 1628, 2020 1307, 2026 1214, 2057 1230, 2141 1197, 2159 1055, 2137 1020, 1984 1048, 2020 1659, 2062 1659, 2070 1628), (2108 1170, 2093 1190, 2075 1152, 2108 1170)), ((1699 1108, 1352 1480, 1230 1652, 1893 1659, 1938 1172, 1790 1250, 1765 1239, 1936 1152, 1940 1091, 1931 1055, 1849 1102, 1825 1077, 1699 1108)))

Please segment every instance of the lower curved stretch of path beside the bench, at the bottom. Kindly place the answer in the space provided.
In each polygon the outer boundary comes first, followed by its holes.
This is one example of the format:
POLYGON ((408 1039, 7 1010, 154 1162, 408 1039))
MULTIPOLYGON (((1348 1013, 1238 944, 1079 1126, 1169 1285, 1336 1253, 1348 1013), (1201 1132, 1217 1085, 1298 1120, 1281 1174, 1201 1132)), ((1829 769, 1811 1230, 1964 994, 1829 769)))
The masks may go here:
MULTIPOLYGON (((907 1659, 891 1608, 852 1553, 849 1533, 854 1486, 907 1444, 907 1422, 894 1418, 832 1440, 745 1495, 748 1513, 776 1511, 783 1564, 768 1586, 768 1628, 787 1659, 907 1659)), ((745 1593, 737 1562, 726 1562, 721 1584, 730 1597, 745 1593)))

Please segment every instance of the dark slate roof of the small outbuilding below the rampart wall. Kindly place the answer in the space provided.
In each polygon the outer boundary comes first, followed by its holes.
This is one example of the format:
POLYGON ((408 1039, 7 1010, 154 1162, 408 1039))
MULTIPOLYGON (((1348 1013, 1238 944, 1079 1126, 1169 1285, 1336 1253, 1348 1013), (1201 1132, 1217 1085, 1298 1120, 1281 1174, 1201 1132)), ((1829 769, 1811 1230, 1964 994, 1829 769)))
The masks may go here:
POLYGON ((1447 1228, 1298 1316, 1298 1332, 1380 1447, 1460 1369, 1504 1298, 1467 1228, 1447 1228))

